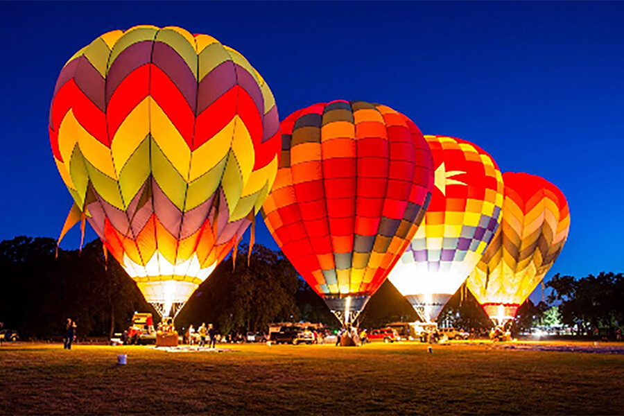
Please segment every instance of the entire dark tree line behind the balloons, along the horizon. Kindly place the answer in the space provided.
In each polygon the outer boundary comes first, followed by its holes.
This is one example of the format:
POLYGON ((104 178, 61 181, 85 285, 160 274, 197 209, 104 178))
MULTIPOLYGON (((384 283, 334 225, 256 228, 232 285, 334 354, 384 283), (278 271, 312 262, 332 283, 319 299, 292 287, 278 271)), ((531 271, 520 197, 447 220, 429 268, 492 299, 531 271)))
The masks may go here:
MULTIPOLYGON (((236 259, 223 261, 200 285, 175 320, 178 328, 205 323, 220 333, 266 331, 272 322, 338 320, 297 275, 281 251, 241 244, 236 259)), ((78 322, 79 336, 111 336, 130 325, 135 311, 157 313, 114 259, 105 261, 98 239, 83 250, 56 250, 49 238, 19 236, 0 242, 0 322, 22 339, 60 336, 64 322, 78 322)), ((576 279, 555 275, 546 302, 527 300, 518 309, 514 331, 538 324, 565 324, 582 335, 598 328, 613 335, 624 318, 624 277, 601 272, 576 279)), ((365 328, 417 320, 409 302, 389 281, 372 296, 359 317, 365 328)), ((157 320, 157 319, 156 319, 157 320)), ((463 329, 492 327, 475 297, 462 286, 444 307, 438 323, 463 329)))

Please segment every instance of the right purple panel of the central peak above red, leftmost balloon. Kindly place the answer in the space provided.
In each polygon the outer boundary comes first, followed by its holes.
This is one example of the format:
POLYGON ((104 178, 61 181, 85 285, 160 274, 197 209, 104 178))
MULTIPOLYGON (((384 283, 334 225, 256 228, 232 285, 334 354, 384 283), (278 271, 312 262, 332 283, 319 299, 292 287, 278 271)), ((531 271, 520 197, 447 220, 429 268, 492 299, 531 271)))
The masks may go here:
POLYGON ((175 49, 163 42, 154 42, 152 63, 162 69, 187 100, 193 113, 197 103, 197 80, 187 62, 175 49))

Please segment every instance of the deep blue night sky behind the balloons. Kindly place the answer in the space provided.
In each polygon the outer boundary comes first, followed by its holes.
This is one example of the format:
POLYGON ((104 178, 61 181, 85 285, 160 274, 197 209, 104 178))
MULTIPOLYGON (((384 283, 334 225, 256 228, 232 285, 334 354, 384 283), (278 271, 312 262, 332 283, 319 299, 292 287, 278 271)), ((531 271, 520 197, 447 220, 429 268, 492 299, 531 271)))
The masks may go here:
MULTIPOLYGON (((64 62, 107 31, 175 25, 243 53, 280 118, 337 98, 384 103, 502 171, 546 178, 572 219, 548 276, 623 272, 623 19, 624 2, 0 2, 0 240, 56 238, 71 207, 47 132, 64 62)), ((62 247, 79 243, 73 230, 62 247)))

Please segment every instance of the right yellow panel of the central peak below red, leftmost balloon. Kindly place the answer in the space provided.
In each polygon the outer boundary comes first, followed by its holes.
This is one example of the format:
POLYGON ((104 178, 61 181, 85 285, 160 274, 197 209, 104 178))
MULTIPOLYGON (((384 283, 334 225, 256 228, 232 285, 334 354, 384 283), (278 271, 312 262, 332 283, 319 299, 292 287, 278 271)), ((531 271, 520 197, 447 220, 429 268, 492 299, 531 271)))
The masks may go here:
POLYGON ((155 100, 149 100, 149 104, 149 119, 146 120, 150 121, 149 128, 154 141, 158 144, 158 147, 168 161, 171 162, 175 170, 180 173, 184 180, 189 182, 191 149, 189 149, 187 142, 184 141, 180 132, 177 131, 175 125, 171 123, 171 120, 164 111, 162 111, 158 103, 156 103, 155 100))

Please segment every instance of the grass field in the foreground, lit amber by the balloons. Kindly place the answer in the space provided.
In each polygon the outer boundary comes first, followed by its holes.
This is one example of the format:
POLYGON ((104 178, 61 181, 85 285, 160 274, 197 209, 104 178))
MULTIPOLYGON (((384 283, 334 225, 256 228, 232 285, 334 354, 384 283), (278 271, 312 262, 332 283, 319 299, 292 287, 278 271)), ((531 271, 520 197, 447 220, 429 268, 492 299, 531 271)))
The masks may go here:
POLYGON ((489 343, 433 354, 419 343, 227 348, 4 344, 0 414, 624 414, 624 355, 489 343))

